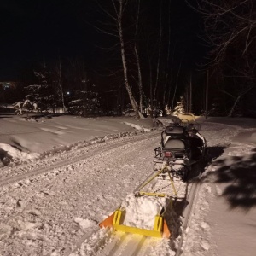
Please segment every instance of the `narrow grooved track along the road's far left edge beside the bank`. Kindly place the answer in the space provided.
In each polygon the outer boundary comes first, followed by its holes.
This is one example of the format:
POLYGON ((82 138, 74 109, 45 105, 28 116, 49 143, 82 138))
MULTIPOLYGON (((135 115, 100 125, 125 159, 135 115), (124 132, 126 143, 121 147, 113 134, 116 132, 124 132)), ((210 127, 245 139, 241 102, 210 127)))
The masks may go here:
MULTIPOLYGON (((32 170, 32 171, 25 172, 25 173, 20 173, 20 174, 17 174, 15 176, 12 176, 12 177, 3 178, 2 180, 0 180, 0 187, 9 185, 11 183, 17 183, 17 182, 20 182, 21 180, 24 180, 24 179, 27 179, 27 178, 30 178, 30 177, 34 177, 34 176, 37 176, 37 175, 40 175, 40 174, 51 172, 54 169, 61 168, 63 166, 68 166, 70 164, 79 162, 80 160, 88 159, 88 158, 90 158, 90 157, 92 157, 96 154, 101 154, 102 151, 108 151, 108 150, 111 150, 113 148, 122 147, 122 146, 127 145, 127 144, 137 143, 139 141, 147 140, 147 139, 150 139, 150 138, 153 138, 153 137, 158 137, 158 136, 159 136, 159 132, 157 132, 157 133, 154 132, 154 134, 149 134, 149 135, 148 134, 146 134, 146 135, 145 134, 137 135, 135 137, 125 139, 125 141, 121 141, 121 142, 116 142, 115 141, 115 143, 101 143, 100 148, 94 148, 89 152, 85 151, 85 152, 82 152, 79 155, 76 154, 75 156, 73 154, 74 152, 72 154, 70 154, 70 152, 67 152, 67 157, 53 163, 50 166, 39 166, 38 169, 36 169, 36 170, 32 170)), ((84 147, 84 149, 86 149, 86 147, 84 147)), ((32 165, 36 166, 36 163, 34 162, 34 163, 32 163, 32 165)))

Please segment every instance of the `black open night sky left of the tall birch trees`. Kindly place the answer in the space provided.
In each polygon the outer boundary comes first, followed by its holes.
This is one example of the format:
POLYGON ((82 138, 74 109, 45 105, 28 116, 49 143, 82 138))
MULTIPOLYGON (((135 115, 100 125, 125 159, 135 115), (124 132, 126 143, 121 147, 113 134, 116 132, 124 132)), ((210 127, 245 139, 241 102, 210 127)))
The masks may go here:
POLYGON ((84 55, 90 60, 96 32, 85 22, 92 18, 88 2, 4 0, 0 77, 11 79, 20 67, 58 55, 84 55))

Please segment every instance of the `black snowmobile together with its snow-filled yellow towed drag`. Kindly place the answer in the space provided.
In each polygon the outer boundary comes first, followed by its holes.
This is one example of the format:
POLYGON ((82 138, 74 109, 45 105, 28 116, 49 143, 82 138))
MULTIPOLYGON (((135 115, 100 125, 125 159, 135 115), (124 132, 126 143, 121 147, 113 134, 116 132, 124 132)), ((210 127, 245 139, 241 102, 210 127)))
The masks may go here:
POLYGON ((161 132, 160 147, 154 149, 156 172, 99 224, 101 228, 171 237, 172 208, 178 198, 174 177, 179 175, 186 179, 189 169, 204 157, 207 148, 205 138, 199 133, 200 125, 177 120, 161 132), (159 177, 165 181, 160 181, 159 177))

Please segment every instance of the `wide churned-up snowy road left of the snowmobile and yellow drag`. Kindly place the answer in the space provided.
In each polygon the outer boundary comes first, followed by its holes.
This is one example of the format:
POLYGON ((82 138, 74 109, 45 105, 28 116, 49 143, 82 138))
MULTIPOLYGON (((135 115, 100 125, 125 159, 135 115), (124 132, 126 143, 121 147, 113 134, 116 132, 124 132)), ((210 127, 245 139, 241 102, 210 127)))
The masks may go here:
POLYGON ((94 145, 94 154, 90 147, 86 148, 90 152, 87 157, 77 156, 78 150, 63 152, 58 157, 68 159, 69 164, 63 165, 65 161, 61 161, 61 166, 53 164, 55 155, 38 164, 6 168, 7 177, 2 184, 14 182, 7 173, 15 172, 15 179, 22 177, 22 180, 1 189, 4 207, 0 209, 3 230, 0 251, 3 255, 10 252, 55 255, 73 251, 77 241, 90 233, 152 172, 159 136, 140 138, 94 145), (42 162, 47 165, 45 170, 42 162), (54 169, 49 172, 50 168, 54 169), (31 176, 33 170, 39 170, 40 174, 31 176))

